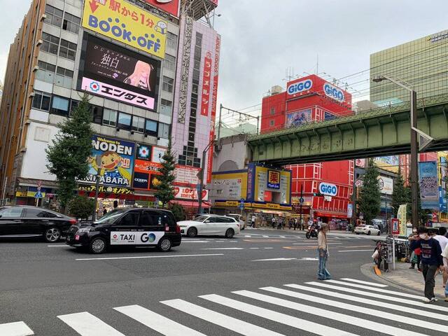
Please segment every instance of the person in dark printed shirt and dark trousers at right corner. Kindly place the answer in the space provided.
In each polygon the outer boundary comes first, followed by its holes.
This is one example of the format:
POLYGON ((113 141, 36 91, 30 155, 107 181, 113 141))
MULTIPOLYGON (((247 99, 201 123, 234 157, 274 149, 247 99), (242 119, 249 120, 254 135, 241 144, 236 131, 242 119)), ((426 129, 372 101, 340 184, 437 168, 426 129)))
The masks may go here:
POLYGON ((420 239, 409 237, 411 249, 421 248, 421 264, 423 268, 423 279, 425 280, 425 297, 423 302, 435 302, 434 287, 435 274, 439 269, 443 269, 442 248, 439 242, 428 235, 428 228, 424 226, 417 230, 420 239))

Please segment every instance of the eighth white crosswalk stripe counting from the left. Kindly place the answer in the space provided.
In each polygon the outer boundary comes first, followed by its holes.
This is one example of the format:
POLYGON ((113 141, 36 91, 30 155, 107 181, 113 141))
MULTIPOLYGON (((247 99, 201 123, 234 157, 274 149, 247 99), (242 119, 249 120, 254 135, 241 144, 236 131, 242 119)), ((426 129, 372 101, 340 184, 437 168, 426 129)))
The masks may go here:
MULTIPOLYGON (((346 294, 342 294, 342 293, 336 293, 336 292, 332 292, 330 290, 323 290, 323 289, 319 289, 319 288, 300 286, 300 285, 296 285, 295 283, 290 283, 290 284, 284 285, 284 286, 290 287, 290 288, 295 288, 295 289, 300 289, 300 290, 307 290, 307 291, 309 291, 311 293, 314 293, 314 294, 322 294, 322 295, 326 295, 326 296, 338 297, 339 299, 354 301, 354 302, 358 302, 358 303, 370 304, 372 306, 377 306, 377 307, 387 308, 387 309, 393 309, 393 310, 402 311, 402 312, 405 312, 405 313, 408 313, 408 314, 416 314, 418 316, 423 316, 422 315, 423 311, 421 309, 409 308, 409 307, 406 307, 406 306, 400 306, 398 304, 391 304, 391 303, 382 302, 382 301, 375 301, 375 300, 365 299, 364 297, 353 296, 353 295, 346 295, 346 294)), ((265 289, 265 288, 262 288, 262 289, 265 289)), ((443 321, 446 321, 446 319, 447 319, 447 315, 433 313, 432 311, 424 311, 424 316, 425 317, 430 317, 430 318, 437 318, 437 319, 440 319, 440 320, 443 320, 443 321)))

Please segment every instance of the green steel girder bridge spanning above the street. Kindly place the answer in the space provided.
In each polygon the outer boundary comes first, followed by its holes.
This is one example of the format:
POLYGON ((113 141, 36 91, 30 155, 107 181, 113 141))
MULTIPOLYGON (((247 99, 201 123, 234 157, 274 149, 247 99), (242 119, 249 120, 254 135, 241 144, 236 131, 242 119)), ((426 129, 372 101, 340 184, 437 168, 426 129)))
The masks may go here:
MULTIPOLYGON (((252 160, 272 165, 349 160, 410 152, 410 103, 249 137, 252 160)), ((417 102, 417 128, 448 149, 448 94, 417 102)))

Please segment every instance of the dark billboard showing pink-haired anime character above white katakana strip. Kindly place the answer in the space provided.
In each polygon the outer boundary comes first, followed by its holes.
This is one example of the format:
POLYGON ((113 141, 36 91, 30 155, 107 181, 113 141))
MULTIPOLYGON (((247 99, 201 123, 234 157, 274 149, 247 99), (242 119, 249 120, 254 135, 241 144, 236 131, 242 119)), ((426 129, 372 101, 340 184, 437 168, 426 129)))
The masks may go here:
POLYGON ((84 34, 78 90, 144 109, 155 109, 160 61, 84 34))

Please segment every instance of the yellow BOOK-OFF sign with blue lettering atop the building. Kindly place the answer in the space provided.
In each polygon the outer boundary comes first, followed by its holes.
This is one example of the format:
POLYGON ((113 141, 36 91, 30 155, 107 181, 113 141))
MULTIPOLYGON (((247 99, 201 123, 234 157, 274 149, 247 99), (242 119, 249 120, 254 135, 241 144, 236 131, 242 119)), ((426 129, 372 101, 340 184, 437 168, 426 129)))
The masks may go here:
POLYGON ((83 27, 160 58, 167 22, 123 0, 85 0, 83 27))

